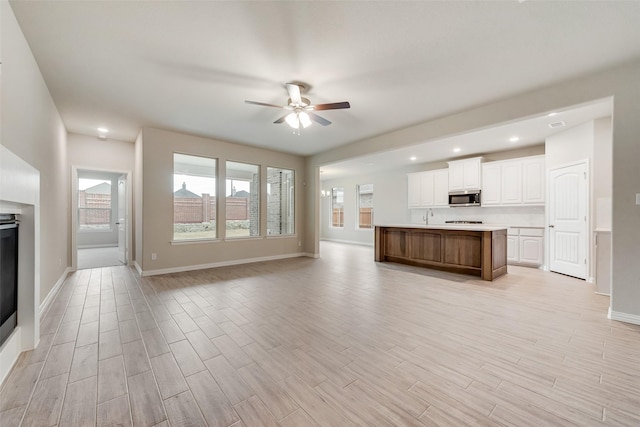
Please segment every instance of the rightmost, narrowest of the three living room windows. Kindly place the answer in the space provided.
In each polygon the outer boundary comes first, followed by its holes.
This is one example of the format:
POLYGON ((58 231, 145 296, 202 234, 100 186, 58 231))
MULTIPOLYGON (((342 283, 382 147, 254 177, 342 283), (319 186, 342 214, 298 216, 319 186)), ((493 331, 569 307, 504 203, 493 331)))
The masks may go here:
POLYGON ((295 218, 294 171, 267 168, 267 234, 293 234, 295 218))

